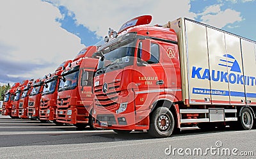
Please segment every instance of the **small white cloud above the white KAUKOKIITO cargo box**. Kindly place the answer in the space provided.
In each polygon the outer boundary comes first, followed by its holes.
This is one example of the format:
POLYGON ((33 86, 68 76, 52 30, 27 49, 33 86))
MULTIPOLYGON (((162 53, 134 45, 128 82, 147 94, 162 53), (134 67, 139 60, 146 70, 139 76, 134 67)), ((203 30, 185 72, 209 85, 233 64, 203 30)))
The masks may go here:
POLYGON ((234 22, 241 22, 243 20, 241 13, 236 10, 227 9, 221 11, 223 4, 216 4, 205 8, 203 13, 200 13, 200 19, 202 22, 214 27, 225 27, 227 24, 233 24, 234 22))

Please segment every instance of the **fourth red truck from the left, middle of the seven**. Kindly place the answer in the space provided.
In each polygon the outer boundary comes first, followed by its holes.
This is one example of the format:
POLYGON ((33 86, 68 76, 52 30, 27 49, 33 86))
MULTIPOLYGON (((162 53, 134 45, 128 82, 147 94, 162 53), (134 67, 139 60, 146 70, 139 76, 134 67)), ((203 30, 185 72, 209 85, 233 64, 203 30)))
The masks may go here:
POLYGON ((29 119, 39 119, 39 108, 40 100, 42 96, 42 90, 44 88, 45 79, 37 79, 31 86, 31 93, 28 99, 28 118, 29 119))

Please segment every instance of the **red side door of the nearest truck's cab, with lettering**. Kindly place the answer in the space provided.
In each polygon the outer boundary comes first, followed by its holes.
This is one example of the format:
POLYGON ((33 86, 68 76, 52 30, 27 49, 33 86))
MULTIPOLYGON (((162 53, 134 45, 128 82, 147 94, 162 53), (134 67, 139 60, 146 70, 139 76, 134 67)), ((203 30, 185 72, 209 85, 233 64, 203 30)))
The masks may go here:
MULTIPOLYGON (((143 110, 144 116, 150 112, 150 103, 159 94, 164 94, 164 68, 163 57, 161 56, 161 45, 155 40, 150 40, 150 59, 143 61, 141 59, 142 40, 136 43, 133 70, 134 82, 134 109, 136 116, 143 116, 140 112, 143 110), (145 111, 145 110, 148 110, 145 111)), ((141 112, 141 113, 143 113, 141 112)))

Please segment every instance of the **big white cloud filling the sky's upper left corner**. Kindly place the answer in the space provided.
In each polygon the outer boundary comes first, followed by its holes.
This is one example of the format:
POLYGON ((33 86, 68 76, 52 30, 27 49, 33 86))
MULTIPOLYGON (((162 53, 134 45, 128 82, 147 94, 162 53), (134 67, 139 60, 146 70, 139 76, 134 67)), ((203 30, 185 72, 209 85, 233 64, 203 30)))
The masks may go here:
MULTIPOLYGON (((60 11, 40 0, 0 1, 1 58, 17 64, 51 64, 16 76, 42 77, 66 59, 72 59, 84 47, 76 35, 60 27, 57 18, 62 18, 60 11)), ((1 66, 4 68, 8 66, 1 66)), ((12 72, 9 76, 13 76, 12 72)))

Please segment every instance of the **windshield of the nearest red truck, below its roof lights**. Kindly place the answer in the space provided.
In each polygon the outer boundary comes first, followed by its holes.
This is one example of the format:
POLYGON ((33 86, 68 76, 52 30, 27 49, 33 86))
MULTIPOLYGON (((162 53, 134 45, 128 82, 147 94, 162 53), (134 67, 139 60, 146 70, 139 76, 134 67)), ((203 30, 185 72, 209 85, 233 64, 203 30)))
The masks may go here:
POLYGON ((129 63, 130 57, 132 56, 134 56, 134 47, 132 47, 131 43, 123 47, 118 47, 105 54, 99 60, 98 70, 113 64, 129 63))

